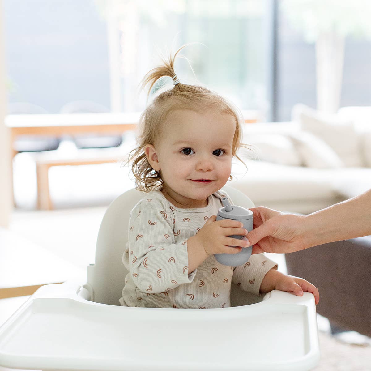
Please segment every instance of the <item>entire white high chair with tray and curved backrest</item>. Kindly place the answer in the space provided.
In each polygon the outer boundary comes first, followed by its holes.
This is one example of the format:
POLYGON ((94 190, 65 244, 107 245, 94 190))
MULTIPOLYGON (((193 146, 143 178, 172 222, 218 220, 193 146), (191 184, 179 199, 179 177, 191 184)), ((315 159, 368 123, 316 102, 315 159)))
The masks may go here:
MULTIPOLYGON (((240 191, 224 189, 235 204, 254 206, 240 191)), ((108 207, 85 284, 42 286, 1 326, 1 366, 43 371, 304 371, 318 363, 316 309, 308 292, 299 297, 273 290, 254 303, 252 295, 232 285, 231 308, 119 306, 127 274, 121 258, 129 211, 142 197, 132 189, 108 207)))

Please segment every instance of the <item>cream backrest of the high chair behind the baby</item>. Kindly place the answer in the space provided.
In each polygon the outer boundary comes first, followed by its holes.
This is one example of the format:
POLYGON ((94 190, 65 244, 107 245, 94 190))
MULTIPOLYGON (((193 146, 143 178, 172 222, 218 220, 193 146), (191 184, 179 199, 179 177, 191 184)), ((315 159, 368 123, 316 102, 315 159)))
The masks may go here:
MULTIPOLYGON (((235 205, 246 209, 254 207, 250 198, 236 188, 224 186, 223 190, 229 194, 235 205)), ((87 283, 84 285, 91 292, 94 302, 119 305, 118 300, 122 296, 128 273, 122 263, 122 255, 128 240, 129 214, 145 195, 132 188, 112 201, 104 214, 96 243, 95 264, 88 266, 87 283)), ((234 286, 231 292, 233 305, 246 304, 246 300, 250 303, 250 296, 234 286)))

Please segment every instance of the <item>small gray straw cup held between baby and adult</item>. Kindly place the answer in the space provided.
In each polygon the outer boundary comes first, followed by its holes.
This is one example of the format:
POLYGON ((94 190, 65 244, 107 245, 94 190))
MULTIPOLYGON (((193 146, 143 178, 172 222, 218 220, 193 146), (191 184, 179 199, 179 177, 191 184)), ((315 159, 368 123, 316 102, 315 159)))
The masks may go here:
MULTIPOLYGON (((218 210, 216 220, 220 219, 232 219, 238 220, 243 223, 243 228, 250 232, 253 229, 253 212, 247 210, 242 206, 231 205, 227 200, 227 197, 221 199, 224 207, 218 210)), ((236 239, 246 239, 244 236, 238 236, 234 234, 233 237, 236 239)), ((214 254, 215 259, 223 265, 238 266, 243 265, 249 260, 253 247, 243 247, 242 250, 237 254, 214 254)))

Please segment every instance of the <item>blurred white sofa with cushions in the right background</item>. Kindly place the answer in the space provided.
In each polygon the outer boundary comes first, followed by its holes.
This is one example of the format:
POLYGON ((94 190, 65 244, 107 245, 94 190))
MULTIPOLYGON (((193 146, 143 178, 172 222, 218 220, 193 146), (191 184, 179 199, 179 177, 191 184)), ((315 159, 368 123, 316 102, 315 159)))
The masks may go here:
POLYGON ((371 107, 345 107, 324 115, 296 105, 290 122, 247 124, 244 143, 259 160, 233 165, 256 206, 311 213, 371 188, 371 107))

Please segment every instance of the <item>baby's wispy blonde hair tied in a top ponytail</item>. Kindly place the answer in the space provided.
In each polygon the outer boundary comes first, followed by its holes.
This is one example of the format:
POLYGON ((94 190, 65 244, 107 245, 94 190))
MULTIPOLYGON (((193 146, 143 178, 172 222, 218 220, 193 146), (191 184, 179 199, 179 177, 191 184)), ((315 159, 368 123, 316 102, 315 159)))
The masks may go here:
MULTIPOLYGON (((185 46, 180 47, 168 60, 162 58, 163 65, 151 69, 142 80, 142 88, 149 86, 148 97, 155 83, 164 76, 169 76, 177 82, 177 75, 174 71, 174 60, 177 54, 185 46)), ((164 129, 162 123, 167 115, 175 109, 189 109, 196 112, 204 112, 205 108, 213 108, 223 114, 230 114, 236 121, 232 144, 232 157, 246 164, 237 155, 240 147, 250 149, 242 143, 242 114, 239 109, 227 99, 200 85, 187 85, 181 82, 171 88, 159 89, 151 104, 142 112, 139 118, 139 134, 137 136, 137 147, 129 152, 127 164, 132 162, 131 171, 135 177, 135 188, 139 191, 150 192, 160 189, 164 184, 161 174, 155 171, 147 160, 144 147, 147 144, 155 145, 161 138, 164 129)), ((247 168, 247 167, 246 167, 247 168)), ((160 170, 161 171, 161 170, 160 170)), ((230 175, 229 180, 233 177, 230 175)))

